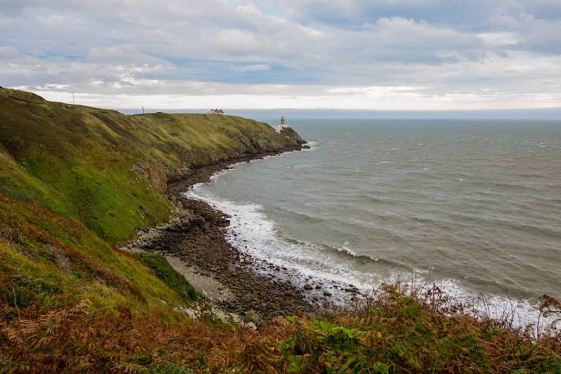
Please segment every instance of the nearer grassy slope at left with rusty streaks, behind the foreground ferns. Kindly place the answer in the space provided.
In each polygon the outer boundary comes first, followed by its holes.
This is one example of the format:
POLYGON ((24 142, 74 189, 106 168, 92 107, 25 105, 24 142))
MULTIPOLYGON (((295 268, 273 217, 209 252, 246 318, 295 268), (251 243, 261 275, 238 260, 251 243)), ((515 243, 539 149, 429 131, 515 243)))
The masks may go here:
MULTIPOLYGON (((45 312, 79 300, 94 310, 129 305, 150 312, 184 304, 135 256, 109 245, 81 223, 0 195, 0 300, 16 312, 45 312)), ((176 273, 177 275, 177 273, 176 273)), ((177 275, 179 276, 179 275, 177 275)))

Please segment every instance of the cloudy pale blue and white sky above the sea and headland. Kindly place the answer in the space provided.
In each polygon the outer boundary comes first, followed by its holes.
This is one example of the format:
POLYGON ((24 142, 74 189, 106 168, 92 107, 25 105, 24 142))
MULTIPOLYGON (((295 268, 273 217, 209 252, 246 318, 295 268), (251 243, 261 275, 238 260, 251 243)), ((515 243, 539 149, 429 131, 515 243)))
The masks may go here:
POLYGON ((561 107, 561 0, 0 0, 0 85, 115 109, 561 107))

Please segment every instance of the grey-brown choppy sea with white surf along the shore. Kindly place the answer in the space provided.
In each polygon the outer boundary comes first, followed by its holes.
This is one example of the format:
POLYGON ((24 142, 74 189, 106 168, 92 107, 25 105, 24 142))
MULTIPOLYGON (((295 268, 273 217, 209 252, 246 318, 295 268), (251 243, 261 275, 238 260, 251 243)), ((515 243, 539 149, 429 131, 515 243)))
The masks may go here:
POLYGON ((522 323, 561 298, 561 122, 291 122, 310 150, 189 191, 232 216, 242 251, 365 290, 414 278, 511 299, 522 323))

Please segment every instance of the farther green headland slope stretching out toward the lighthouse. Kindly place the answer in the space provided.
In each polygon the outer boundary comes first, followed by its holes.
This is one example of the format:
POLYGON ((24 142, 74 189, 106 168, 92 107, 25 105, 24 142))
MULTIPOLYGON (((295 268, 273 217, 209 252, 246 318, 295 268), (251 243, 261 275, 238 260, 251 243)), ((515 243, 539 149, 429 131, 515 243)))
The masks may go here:
POLYGON ((294 131, 236 116, 117 111, 0 90, 0 193, 109 242, 168 218, 168 180, 191 167, 295 148, 294 131))

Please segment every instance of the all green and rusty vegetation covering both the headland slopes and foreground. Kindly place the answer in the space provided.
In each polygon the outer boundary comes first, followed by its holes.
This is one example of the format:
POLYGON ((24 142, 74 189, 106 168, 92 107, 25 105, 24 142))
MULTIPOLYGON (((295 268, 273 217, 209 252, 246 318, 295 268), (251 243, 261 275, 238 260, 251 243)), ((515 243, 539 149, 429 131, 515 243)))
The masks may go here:
MULTIPOLYGON (((234 116, 124 116, 0 89, 0 372, 561 373, 561 337, 384 286, 258 331, 192 321, 165 259, 117 249, 189 167, 301 139, 234 116), (536 336, 532 331, 539 331, 536 336)), ((543 298, 544 313, 559 313, 543 298)))

